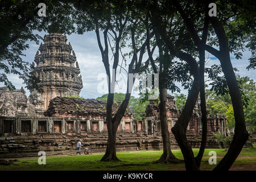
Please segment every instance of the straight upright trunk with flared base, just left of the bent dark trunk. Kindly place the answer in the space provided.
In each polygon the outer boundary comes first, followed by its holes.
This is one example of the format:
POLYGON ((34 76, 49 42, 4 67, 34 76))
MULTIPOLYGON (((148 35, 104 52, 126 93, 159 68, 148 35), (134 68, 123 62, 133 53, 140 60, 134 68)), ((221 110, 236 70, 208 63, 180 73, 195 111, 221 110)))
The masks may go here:
POLYGON ((160 86, 159 89, 160 104, 159 104, 159 114, 160 114, 160 125, 161 133, 163 138, 163 154, 157 162, 160 163, 179 163, 179 160, 172 154, 171 144, 170 144, 170 134, 167 125, 167 111, 166 111, 166 100, 167 100, 167 90, 160 86))

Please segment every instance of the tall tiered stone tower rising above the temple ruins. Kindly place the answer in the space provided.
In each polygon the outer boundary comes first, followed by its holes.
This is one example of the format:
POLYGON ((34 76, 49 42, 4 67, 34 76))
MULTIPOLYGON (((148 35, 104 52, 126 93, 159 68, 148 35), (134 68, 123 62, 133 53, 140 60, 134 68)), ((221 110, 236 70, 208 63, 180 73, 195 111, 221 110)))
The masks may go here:
POLYGON ((36 52, 36 67, 32 72, 39 78, 38 85, 43 93, 30 90, 30 103, 37 109, 47 109, 49 101, 57 96, 79 96, 82 77, 75 52, 71 44, 66 42, 65 35, 45 35, 44 44, 41 43, 39 47, 40 53, 36 52))

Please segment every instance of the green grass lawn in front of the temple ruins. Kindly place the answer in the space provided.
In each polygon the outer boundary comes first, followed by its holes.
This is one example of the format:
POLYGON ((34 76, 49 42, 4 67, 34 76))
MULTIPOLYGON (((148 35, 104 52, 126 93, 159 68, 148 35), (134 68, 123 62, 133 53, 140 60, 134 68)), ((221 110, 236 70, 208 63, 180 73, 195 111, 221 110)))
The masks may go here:
MULTIPOLYGON (((172 150, 179 159, 183 159, 180 150, 172 150)), ((198 148, 193 149, 196 155, 198 148)), ((210 165, 209 151, 216 151, 217 164, 226 154, 224 149, 205 149, 201 170, 210 170, 216 165, 210 165)), ((185 170, 184 163, 181 164, 154 164, 162 155, 162 151, 132 151, 117 152, 121 162, 100 162, 102 153, 92 155, 60 155, 46 156, 46 165, 39 165, 38 158, 19 158, 9 166, 1 166, 0 170, 185 170)), ((244 148, 233 164, 231 170, 256 170, 256 148, 244 148)))

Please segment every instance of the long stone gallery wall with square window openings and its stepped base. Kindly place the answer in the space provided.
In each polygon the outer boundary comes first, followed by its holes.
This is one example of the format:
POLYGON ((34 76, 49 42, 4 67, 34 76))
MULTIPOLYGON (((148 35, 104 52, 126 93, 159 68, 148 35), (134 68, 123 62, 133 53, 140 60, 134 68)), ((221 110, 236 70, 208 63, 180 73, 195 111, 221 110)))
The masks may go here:
MULTIPOLYGON (((93 152, 104 152, 108 133, 104 119, 74 117, 1 117, 0 158, 36 156, 44 150, 47 155, 74 154, 81 139, 93 152)), ((199 147, 199 134, 188 131, 192 147, 199 147)), ((170 134, 172 148, 177 143, 170 134)), ((208 138, 208 147, 220 147, 216 137, 208 138)), ((117 151, 162 150, 160 125, 123 118, 117 132, 117 151), (150 131, 151 130, 151 131, 150 131)))

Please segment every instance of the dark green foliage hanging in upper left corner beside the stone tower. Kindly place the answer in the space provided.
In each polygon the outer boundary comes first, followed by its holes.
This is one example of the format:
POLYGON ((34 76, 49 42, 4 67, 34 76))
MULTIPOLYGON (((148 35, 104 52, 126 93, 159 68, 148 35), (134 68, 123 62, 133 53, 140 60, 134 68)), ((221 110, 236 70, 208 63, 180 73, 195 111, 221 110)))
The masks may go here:
POLYGON ((23 51, 29 48, 28 41, 39 44, 43 39, 35 31, 74 32, 75 9, 71 3, 49 0, 46 3, 46 17, 39 17, 38 4, 42 1, 0 1, 0 82, 9 89, 15 86, 9 81, 9 74, 17 75, 28 89, 38 89, 31 65, 22 59, 23 51), (54 27, 54 28, 53 28, 54 27), (55 29, 55 30, 53 30, 55 29), (59 31, 57 31, 59 30, 59 31))

